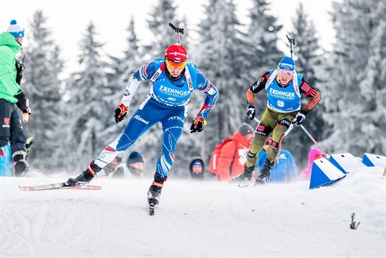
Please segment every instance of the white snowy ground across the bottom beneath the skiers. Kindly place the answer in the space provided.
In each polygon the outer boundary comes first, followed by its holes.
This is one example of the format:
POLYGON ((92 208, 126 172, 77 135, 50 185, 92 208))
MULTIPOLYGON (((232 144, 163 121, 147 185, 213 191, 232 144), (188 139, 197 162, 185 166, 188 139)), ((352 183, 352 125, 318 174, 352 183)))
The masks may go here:
POLYGON ((154 217, 151 178, 35 192, 18 186, 66 178, 0 178, 0 257, 386 257, 382 173, 362 169, 314 190, 170 178, 154 217))

